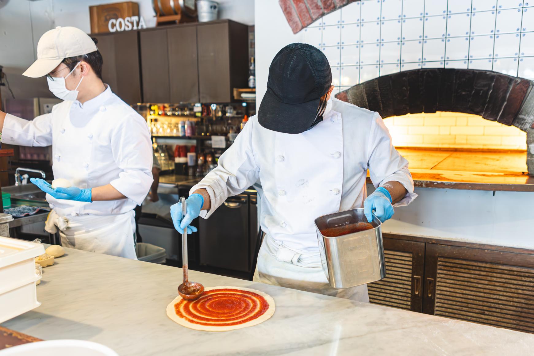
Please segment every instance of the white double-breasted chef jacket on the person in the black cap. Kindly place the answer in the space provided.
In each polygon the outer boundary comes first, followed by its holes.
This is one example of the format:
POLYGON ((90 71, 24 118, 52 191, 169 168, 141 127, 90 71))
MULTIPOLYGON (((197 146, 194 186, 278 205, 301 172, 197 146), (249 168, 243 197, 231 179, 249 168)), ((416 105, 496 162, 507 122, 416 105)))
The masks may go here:
POLYGON ((191 193, 207 189, 211 209, 200 216, 208 218, 228 196, 259 179, 263 232, 290 249, 317 254, 314 220, 363 207, 367 169, 375 187, 394 180, 406 188, 395 207, 417 197, 408 162, 391 144, 380 115, 332 99, 323 121, 297 135, 265 129, 252 116, 218 166, 191 193), (326 169, 316 164, 319 160, 332 163, 326 169))

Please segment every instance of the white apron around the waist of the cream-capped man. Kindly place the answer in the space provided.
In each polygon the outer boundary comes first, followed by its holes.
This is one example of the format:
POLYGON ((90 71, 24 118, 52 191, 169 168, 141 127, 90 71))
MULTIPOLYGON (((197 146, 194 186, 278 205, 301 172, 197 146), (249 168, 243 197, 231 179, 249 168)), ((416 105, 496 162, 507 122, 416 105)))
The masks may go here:
POLYGON ((45 230, 59 229, 61 245, 112 256, 137 259, 135 251, 135 212, 114 215, 77 215, 61 217, 52 210, 45 230))

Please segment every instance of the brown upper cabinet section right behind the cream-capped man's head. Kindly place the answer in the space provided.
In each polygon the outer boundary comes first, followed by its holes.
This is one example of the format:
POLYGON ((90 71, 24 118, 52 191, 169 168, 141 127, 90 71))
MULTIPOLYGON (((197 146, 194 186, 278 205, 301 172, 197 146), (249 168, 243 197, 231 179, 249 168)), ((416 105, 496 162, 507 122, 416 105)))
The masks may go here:
POLYGON ((127 104, 143 101, 139 77, 139 43, 136 31, 91 35, 102 54, 102 79, 127 104))

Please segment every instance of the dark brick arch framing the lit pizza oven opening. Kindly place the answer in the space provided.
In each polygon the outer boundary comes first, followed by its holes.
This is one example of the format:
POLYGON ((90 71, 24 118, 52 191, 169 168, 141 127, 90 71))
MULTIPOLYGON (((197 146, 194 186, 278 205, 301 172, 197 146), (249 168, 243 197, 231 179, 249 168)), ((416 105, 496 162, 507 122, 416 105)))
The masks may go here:
POLYGON ((527 132, 534 175, 534 82, 488 70, 433 68, 384 75, 336 94, 383 118, 438 111, 480 115, 527 132))

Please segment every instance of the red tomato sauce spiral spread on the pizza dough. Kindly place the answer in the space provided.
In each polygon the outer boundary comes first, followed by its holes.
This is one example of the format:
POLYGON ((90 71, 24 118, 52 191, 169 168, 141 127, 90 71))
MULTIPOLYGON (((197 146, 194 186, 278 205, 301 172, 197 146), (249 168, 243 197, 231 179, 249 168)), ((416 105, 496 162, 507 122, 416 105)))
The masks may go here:
POLYGON ((267 300, 252 291, 212 289, 197 300, 180 300, 174 305, 176 315, 190 323, 204 326, 234 326, 253 321, 269 309, 267 300))

